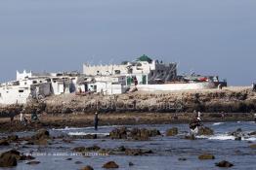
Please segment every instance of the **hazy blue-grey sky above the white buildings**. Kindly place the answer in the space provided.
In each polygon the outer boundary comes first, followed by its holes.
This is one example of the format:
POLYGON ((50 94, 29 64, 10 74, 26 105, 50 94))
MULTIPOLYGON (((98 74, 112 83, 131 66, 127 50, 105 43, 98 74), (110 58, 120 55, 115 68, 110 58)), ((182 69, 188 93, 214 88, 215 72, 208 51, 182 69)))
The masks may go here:
POLYGON ((255 0, 1 0, 0 82, 148 54, 179 73, 256 81, 255 0))

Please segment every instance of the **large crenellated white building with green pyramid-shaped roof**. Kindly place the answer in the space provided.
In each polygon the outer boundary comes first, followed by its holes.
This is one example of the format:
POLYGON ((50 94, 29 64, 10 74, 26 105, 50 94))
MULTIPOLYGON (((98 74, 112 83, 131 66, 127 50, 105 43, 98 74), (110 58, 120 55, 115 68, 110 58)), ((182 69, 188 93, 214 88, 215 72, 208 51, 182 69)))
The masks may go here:
POLYGON ((126 76, 127 85, 137 80, 139 85, 155 84, 157 81, 171 82, 177 76, 177 64, 164 64, 142 55, 134 62, 115 65, 83 65, 83 74, 87 76, 126 76))

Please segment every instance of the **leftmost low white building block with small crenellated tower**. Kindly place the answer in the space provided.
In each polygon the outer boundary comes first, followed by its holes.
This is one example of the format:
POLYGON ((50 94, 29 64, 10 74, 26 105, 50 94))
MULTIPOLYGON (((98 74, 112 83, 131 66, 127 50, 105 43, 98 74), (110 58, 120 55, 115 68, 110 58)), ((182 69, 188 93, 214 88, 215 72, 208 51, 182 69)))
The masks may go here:
POLYGON ((17 81, 0 85, 0 104, 24 104, 32 98, 75 92, 77 73, 17 71, 17 81))

